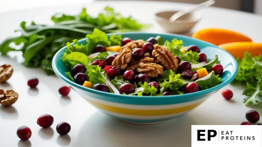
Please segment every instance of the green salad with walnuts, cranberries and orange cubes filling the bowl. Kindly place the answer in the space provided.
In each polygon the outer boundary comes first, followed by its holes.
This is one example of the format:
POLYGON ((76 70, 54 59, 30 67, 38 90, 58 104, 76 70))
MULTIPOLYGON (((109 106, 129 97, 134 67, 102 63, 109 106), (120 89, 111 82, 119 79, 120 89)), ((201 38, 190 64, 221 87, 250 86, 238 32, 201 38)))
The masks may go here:
POLYGON ((73 82, 103 92, 128 95, 176 95, 208 89, 221 82, 217 55, 207 59, 200 49, 174 38, 146 41, 122 38, 94 29, 86 45, 67 43, 62 57, 73 82))

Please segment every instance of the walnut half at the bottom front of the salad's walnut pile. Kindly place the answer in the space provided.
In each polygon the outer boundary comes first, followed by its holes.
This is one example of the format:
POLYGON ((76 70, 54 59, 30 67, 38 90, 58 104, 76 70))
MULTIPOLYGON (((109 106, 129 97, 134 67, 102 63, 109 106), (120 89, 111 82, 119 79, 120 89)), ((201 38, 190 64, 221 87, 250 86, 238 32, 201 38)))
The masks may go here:
POLYGON ((155 78, 158 75, 163 75, 163 67, 159 64, 155 63, 139 63, 139 67, 137 68, 137 72, 144 73, 149 77, 155 78))

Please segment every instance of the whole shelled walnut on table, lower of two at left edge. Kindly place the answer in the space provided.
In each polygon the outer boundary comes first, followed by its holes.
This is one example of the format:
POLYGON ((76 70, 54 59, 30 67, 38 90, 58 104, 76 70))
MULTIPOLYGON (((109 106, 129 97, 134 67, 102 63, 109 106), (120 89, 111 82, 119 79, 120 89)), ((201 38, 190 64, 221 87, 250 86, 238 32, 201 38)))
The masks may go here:
POLYGON ((13 90, 7 90, 6 93, 4 93, 4 90, 0 89, 0 103, 3 106, 11 106, 17 101, 17 99, 17 92, 14 92, 13 90))

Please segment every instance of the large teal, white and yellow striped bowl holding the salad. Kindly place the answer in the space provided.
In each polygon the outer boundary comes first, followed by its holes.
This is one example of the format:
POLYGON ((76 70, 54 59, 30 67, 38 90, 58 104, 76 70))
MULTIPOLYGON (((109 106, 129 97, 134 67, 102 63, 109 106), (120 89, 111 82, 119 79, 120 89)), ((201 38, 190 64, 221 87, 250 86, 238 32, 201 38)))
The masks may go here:
MULTIPOLYGON (((198 39, 173 35, 173 34, 156 34, 156 33, 114 33, 120 34, 122 37, 129 37, 132 40, 150 38, 152 36, 160 35, 163 40, 172 40, 177 38, 183 40, 184 46, 192 44, 198 46, 202 53, 205 53, 207 58, 218 56, 220 64, 223 66, 223 74, 220 76, 222 82, 209 89, 198 92, 168 95, 168 96, 135 96, 114 94, 103 91, 98 91, 91 88, 86 88, 77 83, 74 83, 65 74, 70 69, 65 66, 61 57, 63 56, 67 47, 60 49, 52 60, 53 70, 56 75, 64 82, 70 85, 81 97, 88 103, 94 106, 99 111, 117 118, 121 121, 134 124, 154 124, 164 122, 183 114, 192 111, 198 107, 211 95, 216 93, 220 88, 229 84, 235 77, 238 71, 237 61, 227 51, 198 39)), ((107 36, 112 34, 107 34, 107 36)), ((86 44, 86 38, 78 41, 78 44, 86 44)))

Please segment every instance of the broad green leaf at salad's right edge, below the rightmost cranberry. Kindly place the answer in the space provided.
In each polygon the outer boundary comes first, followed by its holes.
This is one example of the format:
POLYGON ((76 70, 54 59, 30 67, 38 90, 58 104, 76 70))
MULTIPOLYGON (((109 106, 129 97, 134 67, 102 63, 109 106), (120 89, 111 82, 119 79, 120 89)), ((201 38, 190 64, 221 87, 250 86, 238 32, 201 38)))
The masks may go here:
POLYGON ((217 86, 222 80, 219 75, 215 75, 214 71, 211 71, 207 76, 196 80, 198 86, 204 90, 214 86, 217 86))

